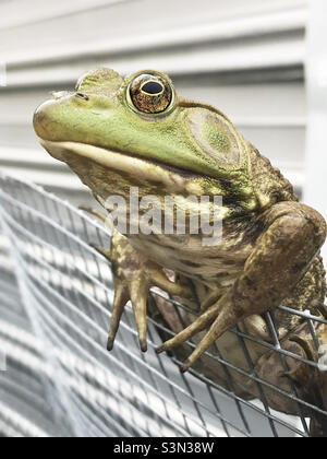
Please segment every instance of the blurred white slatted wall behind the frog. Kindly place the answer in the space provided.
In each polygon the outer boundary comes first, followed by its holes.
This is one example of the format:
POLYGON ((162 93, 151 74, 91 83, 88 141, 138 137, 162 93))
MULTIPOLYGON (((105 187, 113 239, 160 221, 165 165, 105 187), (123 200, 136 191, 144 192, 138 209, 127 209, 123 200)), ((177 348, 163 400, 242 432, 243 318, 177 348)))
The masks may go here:
POLYGON ((153 68, 225 111, 327 216, 326 19, 324 0, 0 0, 0 169, 87 203, 33 113, 95 67, 153 68))

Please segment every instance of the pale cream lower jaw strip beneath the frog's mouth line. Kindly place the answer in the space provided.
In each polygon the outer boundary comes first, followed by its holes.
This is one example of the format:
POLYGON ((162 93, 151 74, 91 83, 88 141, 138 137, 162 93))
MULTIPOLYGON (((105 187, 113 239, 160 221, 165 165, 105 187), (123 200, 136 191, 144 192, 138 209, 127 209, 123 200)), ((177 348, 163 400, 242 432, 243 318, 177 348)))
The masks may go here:
POLYGON ((165 165, 155 164, 145 158, 114 152, 100 146, 78 142, 53 142, 44 139, 39 139, 39 141, 51 156, 64 163, 68 162, 66 158, 69 155, 75 154, 81 157, 81 161, 82 158, 90 160, 106 167, 108 170, 122 172, 156 184, 161 183, 164 186, 169 187, 170 190, 177 192, 185 191, 187 181, 190 184, 192 183, 187 178, 194 178, 192 173, 187 177, 189 174, 185 170, 166 167, 165 165))

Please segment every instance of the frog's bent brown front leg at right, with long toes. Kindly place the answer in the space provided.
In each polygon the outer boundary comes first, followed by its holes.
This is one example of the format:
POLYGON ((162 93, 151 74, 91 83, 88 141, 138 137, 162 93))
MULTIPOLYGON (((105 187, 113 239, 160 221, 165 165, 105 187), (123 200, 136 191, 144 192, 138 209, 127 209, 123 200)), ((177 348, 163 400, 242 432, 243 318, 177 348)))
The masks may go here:
POLYGON ((189 367, 228 329, 281 304, 303 278, 326 239, 320 214, 298 202, 281 202, 264 215, 265 231, 234 285, 185 330, 157 352, 209 331, 183 367, 189 367))

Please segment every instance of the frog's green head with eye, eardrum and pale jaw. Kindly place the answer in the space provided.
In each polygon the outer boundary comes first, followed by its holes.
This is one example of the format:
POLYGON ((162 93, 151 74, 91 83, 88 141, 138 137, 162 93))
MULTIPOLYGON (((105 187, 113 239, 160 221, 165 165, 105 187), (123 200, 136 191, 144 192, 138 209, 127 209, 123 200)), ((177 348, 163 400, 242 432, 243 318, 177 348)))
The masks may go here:
POLYGON ((35 113, 41 144, 95 195, 221 195, 251 210, 249 144, 218 109, 179 97, 165 73, 110 69, 53 93, 35 113))

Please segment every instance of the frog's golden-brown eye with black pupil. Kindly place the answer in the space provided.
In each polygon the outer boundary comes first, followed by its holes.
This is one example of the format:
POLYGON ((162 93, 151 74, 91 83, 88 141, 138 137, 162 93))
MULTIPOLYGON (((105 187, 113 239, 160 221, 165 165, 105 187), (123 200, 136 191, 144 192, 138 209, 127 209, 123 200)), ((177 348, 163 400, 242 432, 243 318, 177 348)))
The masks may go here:
POLYGON ((126 99, 130 107, 136 113, 166 115, 173 108, 174 91, 164 75, 142 73, 131 81, 126 99))

